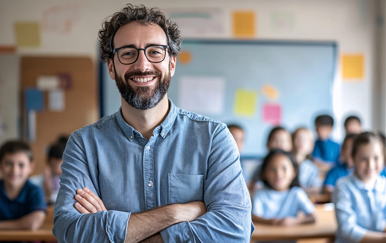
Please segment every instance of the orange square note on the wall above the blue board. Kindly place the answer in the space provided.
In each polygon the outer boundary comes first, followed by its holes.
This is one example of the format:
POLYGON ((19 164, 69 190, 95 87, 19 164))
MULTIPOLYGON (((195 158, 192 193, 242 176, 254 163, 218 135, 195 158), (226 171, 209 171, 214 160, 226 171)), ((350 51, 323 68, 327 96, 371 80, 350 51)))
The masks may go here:
POLYGON ((254 37, 255 13, 252 11, 233 12, 233 34, 235 37, 254 37))

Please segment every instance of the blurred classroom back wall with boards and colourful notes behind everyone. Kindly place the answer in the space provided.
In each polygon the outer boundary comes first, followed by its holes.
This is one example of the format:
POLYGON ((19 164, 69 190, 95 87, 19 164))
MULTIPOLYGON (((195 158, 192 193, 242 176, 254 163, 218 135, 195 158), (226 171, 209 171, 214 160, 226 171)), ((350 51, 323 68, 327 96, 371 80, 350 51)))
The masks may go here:
MULTIPOLYGON (((103 19, 125 1, 0 0, 0 144, 30 142, 35 173, 59 135, 116 112, 120 96, 99 61, 103 19)), ((320 114, 386 128, 384 0, 130 2, 159 7, 183 44, 168 97, 245 130, 243 156, 263 156, 275 125, 314 130, 320 114)))

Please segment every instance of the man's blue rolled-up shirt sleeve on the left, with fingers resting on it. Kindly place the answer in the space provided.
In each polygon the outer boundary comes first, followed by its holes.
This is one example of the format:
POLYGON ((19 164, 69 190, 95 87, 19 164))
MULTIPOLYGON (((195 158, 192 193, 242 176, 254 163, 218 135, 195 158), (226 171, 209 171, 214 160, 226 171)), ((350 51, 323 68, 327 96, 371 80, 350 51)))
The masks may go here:
POLYGON ((98 185, 92 180, 84 146, 73 133, 63 154, 60 190, 54 206, 52 233, 58 242, 123 242, 129 212, 114 210, 81 214, 74 203, 78 188, 88 187, 98 194, 98 185))

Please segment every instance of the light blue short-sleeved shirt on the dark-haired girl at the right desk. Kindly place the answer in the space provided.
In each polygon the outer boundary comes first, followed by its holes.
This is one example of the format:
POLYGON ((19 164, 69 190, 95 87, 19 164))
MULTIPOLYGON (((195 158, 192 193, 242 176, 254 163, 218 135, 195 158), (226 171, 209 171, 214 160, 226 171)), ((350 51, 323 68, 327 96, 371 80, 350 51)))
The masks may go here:
POLYGON ((296 217, 298 212, 307 215, 315 211, 315 206, 300 187, 283 192, 264 187, 256 191, 252 201, 252 214, 265 219, 296 217))

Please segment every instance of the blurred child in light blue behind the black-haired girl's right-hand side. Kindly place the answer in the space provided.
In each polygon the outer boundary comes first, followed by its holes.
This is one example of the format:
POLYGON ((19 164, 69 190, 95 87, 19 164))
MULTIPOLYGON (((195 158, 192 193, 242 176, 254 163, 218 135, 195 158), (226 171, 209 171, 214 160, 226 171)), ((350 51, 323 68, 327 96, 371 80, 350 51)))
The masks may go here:
POLYGON ((314 139, 312 132, 300 127, 292 134, 293 153, 299 167, 299 183, 306 192, 319 192, 322 182, 318 166, 310 159, 314 139))

